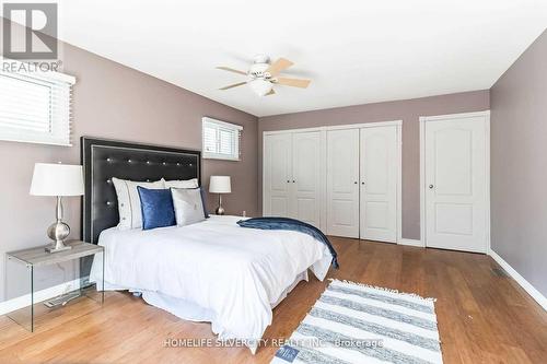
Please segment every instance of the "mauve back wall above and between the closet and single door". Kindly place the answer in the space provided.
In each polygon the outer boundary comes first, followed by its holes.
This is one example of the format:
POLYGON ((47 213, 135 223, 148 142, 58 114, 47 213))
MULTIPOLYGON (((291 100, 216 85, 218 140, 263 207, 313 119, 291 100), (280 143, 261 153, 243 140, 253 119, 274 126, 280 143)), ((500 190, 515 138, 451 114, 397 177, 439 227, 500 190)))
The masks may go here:
MULTIPOLYGON (((258 119, 258 158, 261 171, 263 132, 346 124, 403 120, 403 237, 420 238, 420 116, 481 111, 489 108, 489 93, 474 91, 386 103, 268 116, 258 119)), ((261 173, 258 175, 261 210, 261 173)))

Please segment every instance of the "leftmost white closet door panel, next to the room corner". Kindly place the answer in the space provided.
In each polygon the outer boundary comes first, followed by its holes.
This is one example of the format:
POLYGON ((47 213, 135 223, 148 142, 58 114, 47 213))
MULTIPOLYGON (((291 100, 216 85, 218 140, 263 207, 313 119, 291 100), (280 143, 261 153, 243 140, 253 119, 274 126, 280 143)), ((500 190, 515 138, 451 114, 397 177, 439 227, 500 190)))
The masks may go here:
POLYGON ((264 136, 264 214, 290 215, 292 134, 264 136))

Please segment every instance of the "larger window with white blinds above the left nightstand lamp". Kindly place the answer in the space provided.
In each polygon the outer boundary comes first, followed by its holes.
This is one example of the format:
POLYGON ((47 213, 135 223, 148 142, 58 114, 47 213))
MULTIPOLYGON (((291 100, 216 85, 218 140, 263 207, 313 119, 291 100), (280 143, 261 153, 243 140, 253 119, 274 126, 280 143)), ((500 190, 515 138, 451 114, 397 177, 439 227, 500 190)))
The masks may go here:
POLYGON ((71 145, 71 86, 57 72, 0 72, 0 140, 71 145))

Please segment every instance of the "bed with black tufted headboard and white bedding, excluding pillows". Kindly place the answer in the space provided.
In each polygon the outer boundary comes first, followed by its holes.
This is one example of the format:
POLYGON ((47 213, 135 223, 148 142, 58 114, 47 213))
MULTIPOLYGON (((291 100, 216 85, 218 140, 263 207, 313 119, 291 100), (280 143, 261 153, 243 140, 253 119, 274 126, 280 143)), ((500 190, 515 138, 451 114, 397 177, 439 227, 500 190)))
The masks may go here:
MULTIPOLYGON (((128 290, 183 319, 211 322, 221 340, 240 339, 254 353, 272 308, 312 271, 324 280, 333 257, 310 235, 240 227, 216 216, 183 227, 116 228, 112 177, 190 179, 199 151, 82 138, 83 239, 105 247, 104 290, 128 290)), ((82 267, 95 281, 98 267, 82 267)))

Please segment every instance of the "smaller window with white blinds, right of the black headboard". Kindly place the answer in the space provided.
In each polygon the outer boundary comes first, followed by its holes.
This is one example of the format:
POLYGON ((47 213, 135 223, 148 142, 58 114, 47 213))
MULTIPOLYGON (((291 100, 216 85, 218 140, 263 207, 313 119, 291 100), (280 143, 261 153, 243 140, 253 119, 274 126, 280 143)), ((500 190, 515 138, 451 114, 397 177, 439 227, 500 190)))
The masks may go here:
POLYGON ((240 160, 240 138, 243 127, 225 121, 203 118, 203 157, 240 160))

